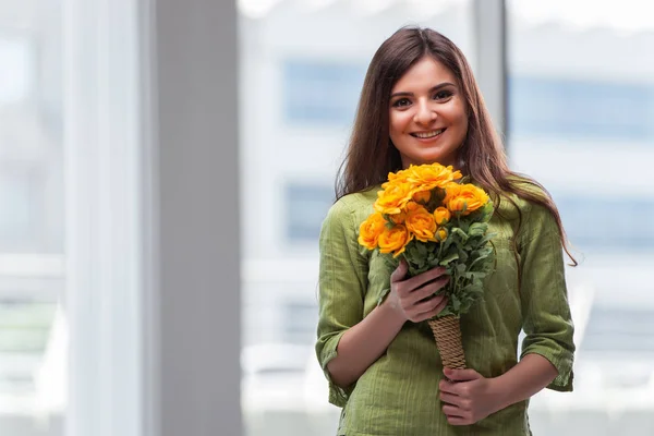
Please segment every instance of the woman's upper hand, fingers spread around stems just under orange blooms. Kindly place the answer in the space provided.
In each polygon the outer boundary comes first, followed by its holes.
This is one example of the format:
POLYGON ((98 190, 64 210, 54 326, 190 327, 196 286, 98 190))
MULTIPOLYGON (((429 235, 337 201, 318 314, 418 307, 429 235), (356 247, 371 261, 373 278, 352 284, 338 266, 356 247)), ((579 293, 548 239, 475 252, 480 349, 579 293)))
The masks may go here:
POLYGON ((444 267, 429 269, 415 277, 404 279, 409 266, 401 259, 390 276, 390 292, 387 302, 403 319, 420 323, 429 319, 443 311, 447 298, 434 295, 449 281, 444 267))

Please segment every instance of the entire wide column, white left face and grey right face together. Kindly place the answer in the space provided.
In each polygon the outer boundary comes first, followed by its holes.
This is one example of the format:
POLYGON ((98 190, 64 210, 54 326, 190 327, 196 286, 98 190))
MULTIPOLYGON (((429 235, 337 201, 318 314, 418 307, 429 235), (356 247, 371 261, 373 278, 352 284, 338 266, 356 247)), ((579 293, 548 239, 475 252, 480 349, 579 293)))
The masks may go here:
POLYGON ((241 434, 233 2, 63 0, 66 436, 241 434))

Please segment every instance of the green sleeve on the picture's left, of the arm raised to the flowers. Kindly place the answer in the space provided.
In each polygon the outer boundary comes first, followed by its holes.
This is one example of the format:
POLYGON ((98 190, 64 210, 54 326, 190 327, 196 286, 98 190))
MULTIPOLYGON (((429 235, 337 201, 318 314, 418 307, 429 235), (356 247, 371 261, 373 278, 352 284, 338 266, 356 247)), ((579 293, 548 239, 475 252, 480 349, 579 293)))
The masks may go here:
POLYGON ((327 364, 337 355, 341 336, 363 319, 367 258, 358 242, 358 223, 348 197, 337 202, 323 222, 319 239, 318 362, 329 382, 329 402, 344 407, 353 386, 337 386, 327 364))

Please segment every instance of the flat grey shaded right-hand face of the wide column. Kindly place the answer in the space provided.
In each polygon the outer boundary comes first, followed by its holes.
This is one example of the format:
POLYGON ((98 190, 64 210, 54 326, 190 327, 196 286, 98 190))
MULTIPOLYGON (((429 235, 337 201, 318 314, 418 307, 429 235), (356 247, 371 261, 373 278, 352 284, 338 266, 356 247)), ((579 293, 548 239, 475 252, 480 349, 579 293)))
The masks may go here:
MULTIPOLYGON (((147 436, 241 434, 234 1, 153 0, 147 436)), ((148 50, 145 50, 148 51, 148 50)), ((146 216, 148 216, 146 214, 146 216)))

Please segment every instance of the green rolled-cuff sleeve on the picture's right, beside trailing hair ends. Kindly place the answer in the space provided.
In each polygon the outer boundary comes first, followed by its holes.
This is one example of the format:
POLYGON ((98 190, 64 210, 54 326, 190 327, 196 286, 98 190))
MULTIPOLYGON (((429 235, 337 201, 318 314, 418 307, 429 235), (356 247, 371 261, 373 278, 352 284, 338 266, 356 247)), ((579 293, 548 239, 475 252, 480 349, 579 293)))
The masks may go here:
POLYGON ((519 243, 525 332, 522 356, 535 353, 547 359, 558 371, 547 388, 571 391, 574 327, 568 304, 562 245, 553 214, 543 206, 532 205, 523 216, 519 243))

